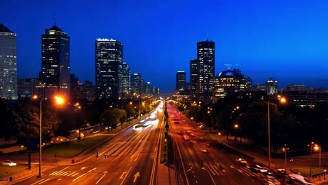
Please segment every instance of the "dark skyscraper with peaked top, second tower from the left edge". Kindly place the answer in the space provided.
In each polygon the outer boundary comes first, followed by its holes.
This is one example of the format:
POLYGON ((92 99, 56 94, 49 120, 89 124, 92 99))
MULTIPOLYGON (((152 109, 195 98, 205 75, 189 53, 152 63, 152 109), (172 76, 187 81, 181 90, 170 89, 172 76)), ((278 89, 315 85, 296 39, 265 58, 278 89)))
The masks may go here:
POLYGON ((47 88, 57 88, 69 97, 70 91, 70 38, 54 25, 42 34, 41 81, 47 88))

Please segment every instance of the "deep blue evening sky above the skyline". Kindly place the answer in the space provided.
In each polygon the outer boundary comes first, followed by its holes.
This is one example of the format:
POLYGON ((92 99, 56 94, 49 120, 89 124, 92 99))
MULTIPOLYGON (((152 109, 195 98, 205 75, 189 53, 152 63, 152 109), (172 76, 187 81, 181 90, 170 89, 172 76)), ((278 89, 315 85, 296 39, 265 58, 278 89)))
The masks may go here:
POLYGON ((216 43, 215 73, 238 68, 253 84, 328 88, 328 1, 1 1, 0 22, 17 34, 18 77, 41 71, 41 34, 56 22, 71 36, 71 74, 95 82, 95 39, 121 41, 131 73, 163 92, 216 43))

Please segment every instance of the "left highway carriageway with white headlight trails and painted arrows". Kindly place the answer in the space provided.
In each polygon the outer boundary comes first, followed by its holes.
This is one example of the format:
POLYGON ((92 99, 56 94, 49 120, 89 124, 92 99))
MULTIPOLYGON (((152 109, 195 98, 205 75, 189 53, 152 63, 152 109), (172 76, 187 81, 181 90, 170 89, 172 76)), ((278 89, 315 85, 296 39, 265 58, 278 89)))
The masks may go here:
MULTIPOLYGON (((163 106, 163 104, 161 104, 163 106)), ((116 135, 99 149, 99 157, 90 157, 74 165, 62 165, 18 184, 153 184, 162 109, 116 135), (160 118, 160 119, 158 119, 160 118), (107 158, 104 158, 104 155, 107 158)))

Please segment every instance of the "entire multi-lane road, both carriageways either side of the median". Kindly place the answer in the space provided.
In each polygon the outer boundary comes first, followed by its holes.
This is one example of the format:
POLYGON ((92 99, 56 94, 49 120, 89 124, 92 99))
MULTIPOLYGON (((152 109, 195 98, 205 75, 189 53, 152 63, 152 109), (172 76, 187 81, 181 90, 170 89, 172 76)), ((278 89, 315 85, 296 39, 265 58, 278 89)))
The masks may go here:
MULTIPOLYGON (((43 171, 18 184, 158 184, 163 103, 152 114, 116 135, 99 157, 43 171), (138 126, 136 126, 138 125, 138 126), (104 155, 107 158, 104 158, 104 155)), ((177 184, 263 184, 266 174, 236 162, 240 153, 213 141, 168 104, 169 134, 175 152, 177 184), (189 139, 184 138, 184 135, 189 139)))

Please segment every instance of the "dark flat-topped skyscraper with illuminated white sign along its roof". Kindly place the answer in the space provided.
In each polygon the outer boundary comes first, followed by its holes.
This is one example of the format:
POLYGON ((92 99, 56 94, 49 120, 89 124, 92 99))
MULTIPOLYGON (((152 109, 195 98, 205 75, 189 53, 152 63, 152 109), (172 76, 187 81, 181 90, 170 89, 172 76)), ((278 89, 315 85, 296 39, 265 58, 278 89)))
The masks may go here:
POLYGON ((114 97, 122 93, 123 43, 114 39, 95 41, 95 75, 97 98, 114 97))

